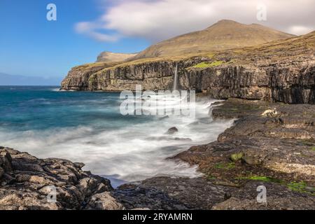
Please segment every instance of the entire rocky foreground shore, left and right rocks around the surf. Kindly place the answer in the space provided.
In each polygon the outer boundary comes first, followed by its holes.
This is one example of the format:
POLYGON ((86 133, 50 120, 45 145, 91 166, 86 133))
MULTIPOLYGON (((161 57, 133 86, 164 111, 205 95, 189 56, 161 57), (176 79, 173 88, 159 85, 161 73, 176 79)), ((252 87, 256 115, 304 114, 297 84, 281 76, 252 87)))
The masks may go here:
POLYGON ((155 177, 114 190, 82 163, 0 148, 0 209, 315 209, 315 105, 216 104, 213 118, 235 125, 169 158, 198 165, 202 178, 155 177), (47 200, 49 186, 56 203, 47 200), (257 202, 258 186, 267 203, 257 202))

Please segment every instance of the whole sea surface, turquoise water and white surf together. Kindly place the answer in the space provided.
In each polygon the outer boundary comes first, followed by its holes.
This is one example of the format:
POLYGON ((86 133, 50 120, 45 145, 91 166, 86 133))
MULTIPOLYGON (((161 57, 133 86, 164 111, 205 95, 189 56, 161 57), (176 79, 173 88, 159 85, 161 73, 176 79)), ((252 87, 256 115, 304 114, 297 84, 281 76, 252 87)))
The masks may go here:
POLYGON ((232 124, 211 120, 214 100, 198 102, 195 118, 161 120, 121 115, 119 93, 58 89, 0 87, 0 145, 39 158, 84 162, 84 169, 108 177, 114 186, 158 175, 199 176, 197 167, 166 159, 216 140, 232 124), (174 126, 179 132, 166 135, 174 126))

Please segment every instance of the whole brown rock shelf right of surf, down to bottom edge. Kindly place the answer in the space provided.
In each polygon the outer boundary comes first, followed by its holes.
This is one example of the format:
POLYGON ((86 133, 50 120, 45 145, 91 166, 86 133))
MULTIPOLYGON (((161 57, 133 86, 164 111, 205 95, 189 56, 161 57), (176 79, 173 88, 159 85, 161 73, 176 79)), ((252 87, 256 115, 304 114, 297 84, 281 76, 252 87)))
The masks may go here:
POLYGON ((158 177, 120 186, 128 209, 315 209, 315 105, 229 99, 213 118, 235 125, 173 159, 198 165, 199 179, 158 177), (267 203, 258 203, 265 186, 267 203))

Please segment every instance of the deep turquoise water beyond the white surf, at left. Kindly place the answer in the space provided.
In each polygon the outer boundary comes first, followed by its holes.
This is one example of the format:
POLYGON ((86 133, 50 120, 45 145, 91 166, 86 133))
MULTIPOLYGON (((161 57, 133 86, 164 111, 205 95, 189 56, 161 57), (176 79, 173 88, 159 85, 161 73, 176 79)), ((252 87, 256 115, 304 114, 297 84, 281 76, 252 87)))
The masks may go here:
POLYGON ((119 93, 63 92, 59 87, 1 87, 0 127, 15 131, 88 125, 118 129, 148 116, 122 116, 119 93))

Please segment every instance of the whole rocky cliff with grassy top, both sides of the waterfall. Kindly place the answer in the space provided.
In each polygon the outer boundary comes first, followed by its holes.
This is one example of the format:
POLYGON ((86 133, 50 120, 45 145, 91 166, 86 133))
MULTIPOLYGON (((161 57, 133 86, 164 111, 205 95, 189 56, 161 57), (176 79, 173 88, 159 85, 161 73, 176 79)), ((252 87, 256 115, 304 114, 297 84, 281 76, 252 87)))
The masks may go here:
POLYGON ((183 90, 226 99, 315 103, 315 32, 252 48, 225 50, 184 59, 152 59, 110 66, 73 68, 63 90, 171 90, 175 66, 183 90))

